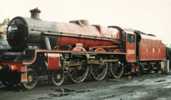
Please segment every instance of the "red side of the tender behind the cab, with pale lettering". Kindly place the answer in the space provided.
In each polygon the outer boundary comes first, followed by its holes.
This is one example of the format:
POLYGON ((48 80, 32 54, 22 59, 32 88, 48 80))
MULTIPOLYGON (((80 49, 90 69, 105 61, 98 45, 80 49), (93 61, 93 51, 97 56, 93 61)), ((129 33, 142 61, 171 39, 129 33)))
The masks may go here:
POLYGON ((140 61, 166 59, 166 47, 154 36, 142 36, 139 47, 140 61))

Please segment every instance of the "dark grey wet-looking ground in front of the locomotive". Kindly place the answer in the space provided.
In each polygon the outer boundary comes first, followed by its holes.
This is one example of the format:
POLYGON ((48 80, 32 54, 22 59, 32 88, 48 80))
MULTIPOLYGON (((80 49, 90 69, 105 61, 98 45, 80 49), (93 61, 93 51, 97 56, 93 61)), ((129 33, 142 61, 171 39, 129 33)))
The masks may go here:
POLYGON ((171 75, 148 74, 61 88, 46 84, 31 91, 1 86, 0 100, 171 100, 171 75))

